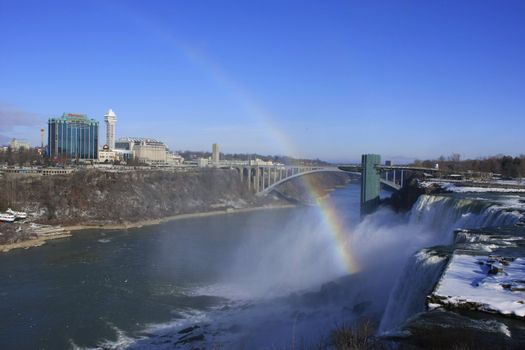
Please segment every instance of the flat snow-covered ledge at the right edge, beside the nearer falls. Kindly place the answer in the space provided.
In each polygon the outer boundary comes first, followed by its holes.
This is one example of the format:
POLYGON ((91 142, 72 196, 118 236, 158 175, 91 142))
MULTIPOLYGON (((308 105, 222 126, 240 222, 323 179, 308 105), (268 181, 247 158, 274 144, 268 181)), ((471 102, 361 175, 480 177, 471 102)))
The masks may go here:
POLYGON ((454 254, 431 295, 435 304, 525 317, 525 259, 454 254))

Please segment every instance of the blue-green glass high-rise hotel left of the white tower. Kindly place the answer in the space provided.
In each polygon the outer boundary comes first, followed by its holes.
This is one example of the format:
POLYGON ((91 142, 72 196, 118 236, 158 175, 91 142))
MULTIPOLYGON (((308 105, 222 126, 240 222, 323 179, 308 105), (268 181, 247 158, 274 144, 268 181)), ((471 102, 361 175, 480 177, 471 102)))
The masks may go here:
POLYGON ((72 113, 50 118, 48 145, 51 158, 97 159, 98 121, 72 113))

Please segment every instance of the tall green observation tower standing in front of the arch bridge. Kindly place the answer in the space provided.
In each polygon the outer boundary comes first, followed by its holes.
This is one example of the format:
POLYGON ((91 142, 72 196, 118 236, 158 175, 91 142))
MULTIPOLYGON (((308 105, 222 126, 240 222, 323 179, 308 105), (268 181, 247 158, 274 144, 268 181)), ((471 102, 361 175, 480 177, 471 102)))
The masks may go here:
POLYGON ((361 215, 367 215, 379 206, 381 177, 377 166, 381 164, 379 154, 363 154, 361 157, 361 215))

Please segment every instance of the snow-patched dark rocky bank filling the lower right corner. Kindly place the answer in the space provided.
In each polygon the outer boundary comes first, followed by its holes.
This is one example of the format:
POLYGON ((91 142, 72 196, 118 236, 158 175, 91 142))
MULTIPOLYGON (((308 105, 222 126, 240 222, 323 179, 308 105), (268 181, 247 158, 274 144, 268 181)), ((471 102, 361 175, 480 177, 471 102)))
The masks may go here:
POLYGON ((523 349, 523 217, 502 227, 458 229, 452 245, 433 250, 448 251, 449 258, 427 294, 426 307, 412 313, 397 332, 385 335, 417 348, 439 344, 441 348, 523 349))

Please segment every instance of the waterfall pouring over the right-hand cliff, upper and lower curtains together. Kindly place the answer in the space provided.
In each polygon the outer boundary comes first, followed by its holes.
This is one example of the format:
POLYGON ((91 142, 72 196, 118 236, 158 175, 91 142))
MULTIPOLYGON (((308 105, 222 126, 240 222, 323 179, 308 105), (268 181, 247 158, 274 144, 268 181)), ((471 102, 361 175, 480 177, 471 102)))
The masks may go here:
MULTIPOLYGON (((427 243, 452 244, 456 229, 509 226, 522 217, 520 205, 509 207, 497 198, 422 195, 412 207, 407 229, 430 232, 433 239, 427 243)), ((436 249, 422 249, 408 259, 390 293, 380 334, 395 332, 407 319, 425 311, 426 296, 437 283, 447 261, 448 254, 443 248, 439 250, 441 254, 436 249)))

